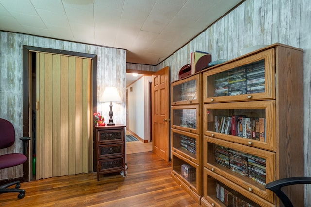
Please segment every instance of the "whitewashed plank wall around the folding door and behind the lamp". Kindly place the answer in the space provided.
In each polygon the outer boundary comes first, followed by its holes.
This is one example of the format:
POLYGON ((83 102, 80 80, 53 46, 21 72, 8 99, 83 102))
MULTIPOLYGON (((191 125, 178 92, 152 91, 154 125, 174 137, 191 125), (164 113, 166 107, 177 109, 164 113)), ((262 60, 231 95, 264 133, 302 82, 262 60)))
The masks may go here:
MULTIPOLYGON (((94 90, 97 90, 97 99, 104 92, 105 86, 117 87, 123 103, 114 104, 113 119, 115 123, 126 123, 126 50, 0 31, 0 117, 13 123, 17 139, 22 137, 23 123, 23 45, 96 54, 97 88, 94 90)), ((109 104, 97 104, 97 111, 106 120, 109 119, 109 110, 109 104)), ((7 152, 22 152, 21 142, 17 141, 8 150, 0 150, 0 154, 7 152)), ((22 175, 22 166, 9 171, 3 169, 0 180, 22 175)))

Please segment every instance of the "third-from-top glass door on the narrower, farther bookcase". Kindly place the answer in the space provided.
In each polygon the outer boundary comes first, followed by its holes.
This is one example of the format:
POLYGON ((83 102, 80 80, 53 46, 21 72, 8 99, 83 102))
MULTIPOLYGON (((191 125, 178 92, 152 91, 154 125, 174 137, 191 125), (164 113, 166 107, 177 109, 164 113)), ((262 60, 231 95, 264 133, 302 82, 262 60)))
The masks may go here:
POLYGON ((200 139, 193 134, 172 128, 172 151, 197 164, 200 162, 200 139))

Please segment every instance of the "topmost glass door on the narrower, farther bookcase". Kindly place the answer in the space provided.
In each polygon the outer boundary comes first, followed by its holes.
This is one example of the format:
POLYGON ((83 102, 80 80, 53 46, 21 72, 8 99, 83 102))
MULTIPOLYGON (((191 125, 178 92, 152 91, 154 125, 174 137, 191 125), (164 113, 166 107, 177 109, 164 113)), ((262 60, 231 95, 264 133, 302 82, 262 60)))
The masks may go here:
POLYGON ((171 103, 180 104, 197 104, 200 100, 200 74, 190 76, 183 80, 171 83, 171 103))

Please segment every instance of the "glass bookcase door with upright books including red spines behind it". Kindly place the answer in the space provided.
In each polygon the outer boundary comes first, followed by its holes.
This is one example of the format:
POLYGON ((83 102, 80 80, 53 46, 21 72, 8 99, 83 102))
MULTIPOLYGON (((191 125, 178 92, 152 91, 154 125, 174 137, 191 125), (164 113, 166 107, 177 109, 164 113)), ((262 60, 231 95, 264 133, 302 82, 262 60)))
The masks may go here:
POLYGON ((204 104, 204 134, 276 151, 275 101, 204 104))

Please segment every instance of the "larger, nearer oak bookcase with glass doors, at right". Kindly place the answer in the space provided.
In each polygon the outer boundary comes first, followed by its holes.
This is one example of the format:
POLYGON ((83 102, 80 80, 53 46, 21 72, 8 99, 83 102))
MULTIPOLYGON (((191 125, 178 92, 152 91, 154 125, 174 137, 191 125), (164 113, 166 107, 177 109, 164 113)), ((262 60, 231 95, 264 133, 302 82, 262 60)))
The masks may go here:
MULTIPOLYGON (((282 206, 264 186, 303 176, 302 49, 276 43, 201 73, 201 205, 224 207, 233 202, 229 195, 234 202, 282 206)), ((303 206, 303 185, 285 191, 303 206)))

